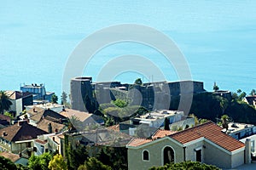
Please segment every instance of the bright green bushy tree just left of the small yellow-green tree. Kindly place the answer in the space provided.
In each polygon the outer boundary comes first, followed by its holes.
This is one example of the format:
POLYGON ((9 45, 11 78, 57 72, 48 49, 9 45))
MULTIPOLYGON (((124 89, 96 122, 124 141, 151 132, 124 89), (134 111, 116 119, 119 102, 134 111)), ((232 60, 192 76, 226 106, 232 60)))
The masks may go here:
POLYGON ((28 167, 32 170, 48 170, 49 161, 52 156, 49 152, 42 154, 41 156, 31 156, 28 160, 28 167))

